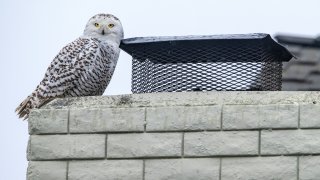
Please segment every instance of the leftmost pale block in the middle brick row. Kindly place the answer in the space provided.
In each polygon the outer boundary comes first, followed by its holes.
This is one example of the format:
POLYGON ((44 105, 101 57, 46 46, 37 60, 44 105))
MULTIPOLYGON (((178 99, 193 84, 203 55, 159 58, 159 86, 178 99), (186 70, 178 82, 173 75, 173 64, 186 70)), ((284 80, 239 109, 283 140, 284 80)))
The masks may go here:
POLYGON ((31 160, 105 158, 106 135, 33 135, 31 160))

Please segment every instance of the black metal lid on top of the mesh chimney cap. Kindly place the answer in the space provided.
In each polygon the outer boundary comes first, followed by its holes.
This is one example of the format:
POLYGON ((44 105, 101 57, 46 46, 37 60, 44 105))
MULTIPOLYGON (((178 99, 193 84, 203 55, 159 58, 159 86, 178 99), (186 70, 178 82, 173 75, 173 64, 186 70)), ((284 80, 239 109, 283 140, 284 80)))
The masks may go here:
MULTIPOLYGON (((274 54, 275 61, 289 61, 293 56, 283 46, 275 42, 269 34, 226 34, 209 36, 160 36, 160 37, 136 37, 122 40, 120 48, 139 60, 150 59, 162 61, 168 59, 171 62, 260 62, 261 58, 247 58, 238 54, 234 59, 221 56, 210 56, 208 53, 223 50, 223 47, 239 49, 251 48, 250 51, 263 51, 274 54), (253 50, 257 48, 256 50, 253 50)), ((228 52, 227 52, 228 53, 228 52)), ((245 52, 242 52, 245 53, 245 52)))

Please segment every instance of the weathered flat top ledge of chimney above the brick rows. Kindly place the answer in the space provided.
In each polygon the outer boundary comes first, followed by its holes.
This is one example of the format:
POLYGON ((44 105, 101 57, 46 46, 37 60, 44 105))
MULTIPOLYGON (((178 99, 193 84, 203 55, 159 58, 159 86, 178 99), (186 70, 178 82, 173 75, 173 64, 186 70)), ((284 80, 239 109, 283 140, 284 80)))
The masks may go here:
POLYGON ((55 99, 42 109, 205 106, 223 104, 320 104, 320 92, 179 92, 55 99))

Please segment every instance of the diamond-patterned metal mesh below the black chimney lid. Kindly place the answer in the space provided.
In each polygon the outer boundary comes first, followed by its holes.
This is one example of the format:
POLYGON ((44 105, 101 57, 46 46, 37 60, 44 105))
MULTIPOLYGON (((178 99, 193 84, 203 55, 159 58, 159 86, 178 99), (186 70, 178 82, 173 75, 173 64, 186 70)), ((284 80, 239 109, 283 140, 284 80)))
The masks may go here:
POLYGON ((133 60, 133 93, 281 90, 282 63, 158 64, 133 60))

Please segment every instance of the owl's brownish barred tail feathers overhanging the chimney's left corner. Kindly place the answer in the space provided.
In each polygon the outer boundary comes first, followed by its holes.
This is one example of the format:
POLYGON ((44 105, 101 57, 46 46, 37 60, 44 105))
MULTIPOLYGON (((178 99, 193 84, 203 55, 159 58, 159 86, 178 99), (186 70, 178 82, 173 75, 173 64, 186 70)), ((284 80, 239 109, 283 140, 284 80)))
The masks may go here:
POLYGON ((33 108, 39 108, 50 102, 52 98, 39 98, 36 93, 28 96, 15 110, 19 118, 28 119, 29 113, 33 108))

